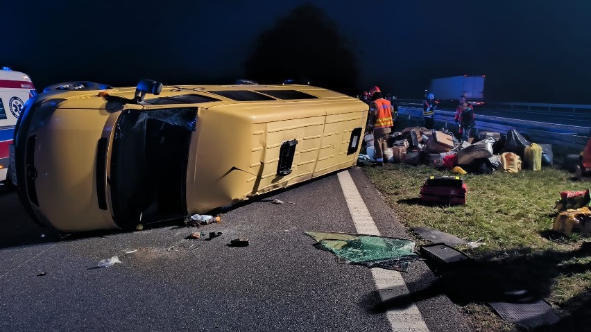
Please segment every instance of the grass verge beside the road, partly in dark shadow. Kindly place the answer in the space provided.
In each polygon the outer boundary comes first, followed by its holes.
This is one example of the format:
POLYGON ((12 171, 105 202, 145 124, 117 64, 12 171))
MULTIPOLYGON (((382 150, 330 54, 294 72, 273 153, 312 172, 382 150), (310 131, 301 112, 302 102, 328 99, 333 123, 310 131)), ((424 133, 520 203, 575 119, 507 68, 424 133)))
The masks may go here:
POLYGON ((466 205, 442 207, 421 204, 419 190, 427 177, 450 175, 447 171, 406 164, 363 170, 406 226, 431 227, 468 241, 483 238, 486 245, 477 249, 458 249, 486 265, 472 277, 456 276, 453 283, 463 292, 448 294, 475 331, 519 331, 486 306, 495 292, 512 288, 527 288, 554 306, 563 317, 556 329, 591 326, 591 251, 581 249, 590 240, 551 231, 558 193, 587 189, 591 183, 557 168, 464 175, 466 205))

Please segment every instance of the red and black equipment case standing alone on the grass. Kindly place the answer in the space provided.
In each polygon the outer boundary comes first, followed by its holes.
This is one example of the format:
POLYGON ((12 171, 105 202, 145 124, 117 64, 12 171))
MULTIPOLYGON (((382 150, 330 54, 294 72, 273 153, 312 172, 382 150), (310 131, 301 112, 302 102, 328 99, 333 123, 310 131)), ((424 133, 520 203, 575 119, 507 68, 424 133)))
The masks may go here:
POLYGON ((435 204, 466 204, 467 191, 459 176, 430 176, 420 188, 420 199, 435 204))

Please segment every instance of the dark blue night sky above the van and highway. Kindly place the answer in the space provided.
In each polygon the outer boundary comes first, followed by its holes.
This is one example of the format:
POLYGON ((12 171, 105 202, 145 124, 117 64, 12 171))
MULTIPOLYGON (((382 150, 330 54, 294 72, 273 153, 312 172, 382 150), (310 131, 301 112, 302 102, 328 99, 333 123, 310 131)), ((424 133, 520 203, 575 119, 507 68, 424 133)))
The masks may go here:
POLYGON ((348 94, 378 85, 422 98, 431 78, 486 75, 489 101, 591 103, 588 0, 2 0, 0 13, 0 66, 38 91, 301 74, 348 94))

